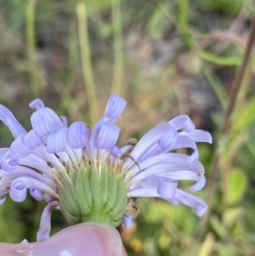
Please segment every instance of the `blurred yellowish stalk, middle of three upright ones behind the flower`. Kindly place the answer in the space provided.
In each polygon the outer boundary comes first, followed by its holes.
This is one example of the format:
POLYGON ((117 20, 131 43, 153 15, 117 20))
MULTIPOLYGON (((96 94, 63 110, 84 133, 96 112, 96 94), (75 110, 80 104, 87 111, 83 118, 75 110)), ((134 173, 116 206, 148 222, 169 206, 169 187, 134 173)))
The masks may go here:
POLYGON ((88 40, 88 16, 85 2, 77 3, 78 33, 82 55, 82 74, 88 94, 90 123, 92 125, 99 119, 96 88, 92 69, 92 60, 88 40))

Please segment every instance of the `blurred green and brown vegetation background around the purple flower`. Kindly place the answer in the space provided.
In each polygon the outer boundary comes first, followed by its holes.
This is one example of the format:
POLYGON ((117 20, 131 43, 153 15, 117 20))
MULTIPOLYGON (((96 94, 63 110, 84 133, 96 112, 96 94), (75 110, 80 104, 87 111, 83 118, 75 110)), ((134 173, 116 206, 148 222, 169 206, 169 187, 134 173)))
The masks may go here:
MULTIPOLYGON (((93 125, 116 93, 127 99, 119 145, 178 114, 212 133, 213 145, 199 145, 207 186, 196 192, 211 210, 200 219, 138 199, 135 224, 120 229, 128 255, 255 255, 254 48, 219 132, 254 13, 252 0, 0 0, 0 102, 26 128, 37 97, 69 123, 93 125)), ((11 142, 1 123, 1 147, 11 142)), ((7 198, 0 241, 35 241, 44 206, 7 198)), ((65 226, 54 211, 52 234, 65 226)))

